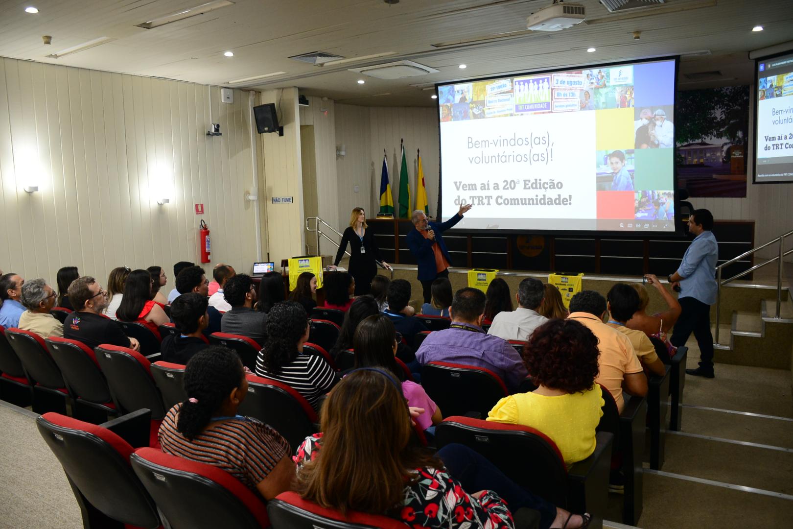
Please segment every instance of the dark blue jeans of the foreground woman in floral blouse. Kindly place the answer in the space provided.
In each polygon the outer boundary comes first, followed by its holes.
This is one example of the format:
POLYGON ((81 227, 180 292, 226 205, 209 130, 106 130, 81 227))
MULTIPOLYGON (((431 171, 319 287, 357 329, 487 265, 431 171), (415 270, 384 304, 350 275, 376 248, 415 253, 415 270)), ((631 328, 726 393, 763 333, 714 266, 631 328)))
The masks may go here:
POLYGON ((438 457, 451 477, 460 481, 466 493, 492 490, 507 501, 510 512, 530 508, 540 512, 540 529, 547 529, 556 518, 554 504, 515 484, 481 454, 465 445, 452 443, 438 450, 438 457))

